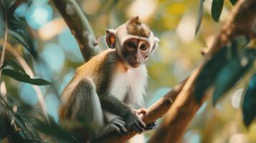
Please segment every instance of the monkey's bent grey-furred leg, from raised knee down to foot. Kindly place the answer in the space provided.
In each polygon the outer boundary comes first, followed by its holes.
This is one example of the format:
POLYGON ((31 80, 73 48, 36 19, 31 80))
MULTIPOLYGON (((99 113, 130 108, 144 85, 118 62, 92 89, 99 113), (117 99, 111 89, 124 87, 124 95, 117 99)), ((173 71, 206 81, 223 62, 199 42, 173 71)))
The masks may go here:
POLYGON ((100 99, 96 93, 95 84, 92 79, 81 79, 70 97, 70 109, 67 111, 71 119, 82 119, 88 125, 93 125, 95 131, 90 133, 90 139, 97 139, 109 132, 126 131, 125 122, 122 119, 113 119, 104 125, 103 110, 100 99))

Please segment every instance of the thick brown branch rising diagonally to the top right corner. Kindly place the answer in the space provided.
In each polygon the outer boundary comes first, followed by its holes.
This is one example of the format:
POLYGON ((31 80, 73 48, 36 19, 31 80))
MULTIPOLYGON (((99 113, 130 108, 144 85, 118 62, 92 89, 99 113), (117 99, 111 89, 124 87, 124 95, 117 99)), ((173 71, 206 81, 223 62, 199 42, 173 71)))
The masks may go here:
POLYGON ((149 142, 179 142, 181 135, 194 117, 194 114, 207 99, 204 98, 200 104, 194 99, 196 77, 204 67, 204 64, 207 63, 216 51, 226 45, 228 41, 232 40, 234 36, 241 34, 250 37, 256 36, 255 0, 237 1, 237 4, 232 9, 228 19, 224 22, 221 31, 219 31, 214 44, 205 56, 202 64, 191 74, 191 77, 189 77, 184 88, 181 90, 179 97, 177 97, 176 102, 169 109, 166 119, 149 142))

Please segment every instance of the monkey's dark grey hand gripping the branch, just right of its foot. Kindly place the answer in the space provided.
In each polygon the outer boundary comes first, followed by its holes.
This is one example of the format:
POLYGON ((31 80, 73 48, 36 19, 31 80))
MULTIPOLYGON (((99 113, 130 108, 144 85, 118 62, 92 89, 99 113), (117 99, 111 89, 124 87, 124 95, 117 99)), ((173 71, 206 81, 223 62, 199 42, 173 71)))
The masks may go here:
POLYGON ((133 129, 138 134, 141 134, 146 128, 146 124, 138 117, 137 110, 133 110, 131 114, 125 117, 126 127, 133 129))

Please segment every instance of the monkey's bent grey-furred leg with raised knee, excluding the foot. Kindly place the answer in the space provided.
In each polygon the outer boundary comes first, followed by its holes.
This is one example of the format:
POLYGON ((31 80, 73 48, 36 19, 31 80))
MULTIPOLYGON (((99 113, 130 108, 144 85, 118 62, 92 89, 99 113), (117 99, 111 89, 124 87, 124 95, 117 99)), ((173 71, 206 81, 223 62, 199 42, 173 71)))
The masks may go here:
POLYGON ((71 94, 67 109, 70 109, 67 113, 71 119, 81 117, 85 123, 94 124, 96 128, 104 125, 103 111, 92 79, 80 80, 71 94))

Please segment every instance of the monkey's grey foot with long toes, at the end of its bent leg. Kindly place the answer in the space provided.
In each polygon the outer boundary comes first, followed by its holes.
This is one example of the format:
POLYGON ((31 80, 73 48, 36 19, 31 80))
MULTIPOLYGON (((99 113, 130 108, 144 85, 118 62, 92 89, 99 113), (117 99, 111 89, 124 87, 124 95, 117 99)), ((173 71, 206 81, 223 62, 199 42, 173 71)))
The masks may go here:
POLYGON ((122 118, 115 118, 110 121, 110 130, 118 132, 118 134, 127 134, 127 129, 125 128, 125 122, 122 118))

